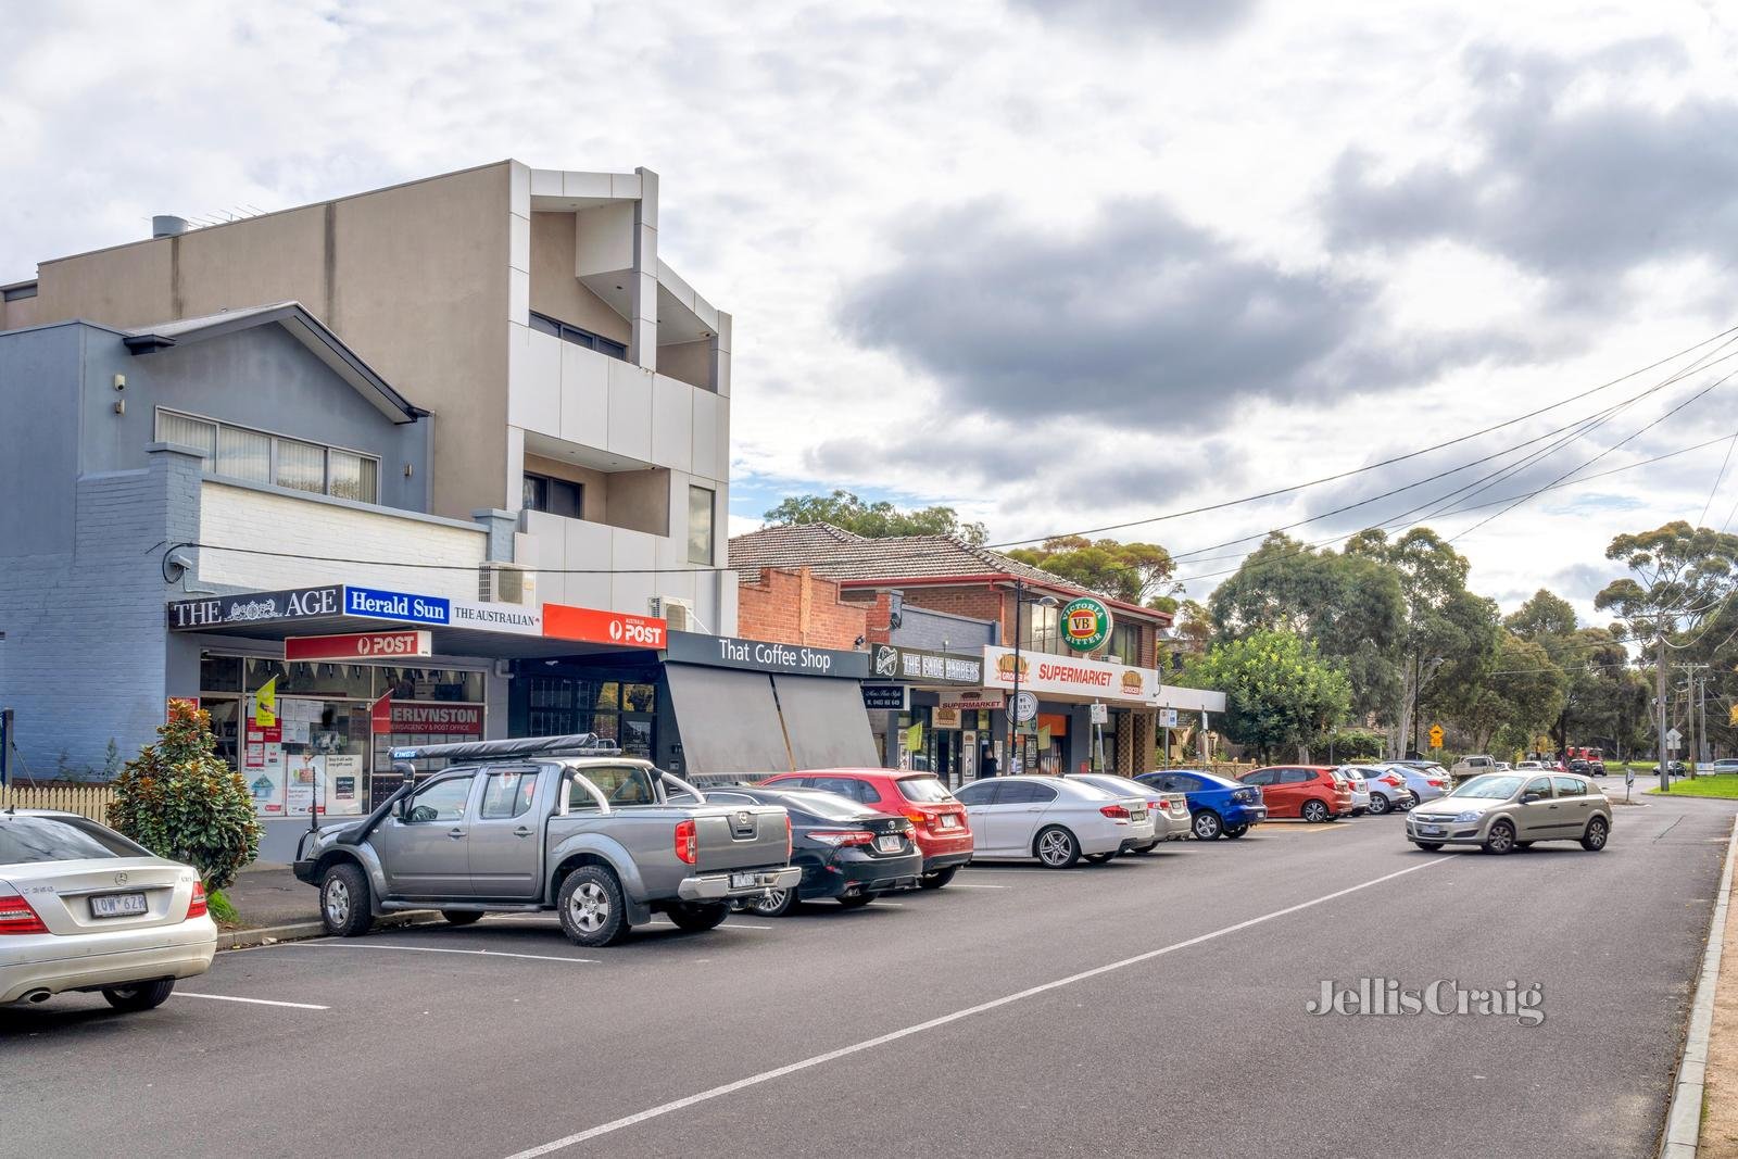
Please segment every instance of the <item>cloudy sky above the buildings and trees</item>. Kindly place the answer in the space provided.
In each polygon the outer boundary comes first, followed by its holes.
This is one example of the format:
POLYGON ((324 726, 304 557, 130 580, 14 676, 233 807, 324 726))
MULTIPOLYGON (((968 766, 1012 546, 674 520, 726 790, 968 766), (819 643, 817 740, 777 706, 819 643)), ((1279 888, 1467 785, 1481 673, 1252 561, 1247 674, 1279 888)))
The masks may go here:
POLYGON ((0 281, 156 212, 501 156, 659 170, 664 257, 737 318, 739 528, 846 487, 1022 540, 1496 426, 1116 535, 1184 556, 1204 596, 1269 528, 1427 520, 1505 606, 1547 584, 1589 612, 1613 533, 1738 504, 1738 462, 1714 492, 1738 431, 1738 379, 1715 384, 1738 334, 1708 342, 1738 325, 1738 21, 1714 0, 54 3, 7 24, 0 281))

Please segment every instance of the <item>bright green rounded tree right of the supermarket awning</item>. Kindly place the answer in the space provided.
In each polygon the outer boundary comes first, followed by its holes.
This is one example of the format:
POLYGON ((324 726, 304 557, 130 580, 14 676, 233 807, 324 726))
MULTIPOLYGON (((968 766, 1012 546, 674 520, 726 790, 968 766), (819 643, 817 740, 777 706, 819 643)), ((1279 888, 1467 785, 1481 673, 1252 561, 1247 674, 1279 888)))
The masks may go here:
POLYGON ((1352 704, 1345 674, 1295 632, 1257 631, 1215 645, 1184 669, 1182 683, 1224 692, 1225 737, 1264 761, 1321 742, 1352 704))

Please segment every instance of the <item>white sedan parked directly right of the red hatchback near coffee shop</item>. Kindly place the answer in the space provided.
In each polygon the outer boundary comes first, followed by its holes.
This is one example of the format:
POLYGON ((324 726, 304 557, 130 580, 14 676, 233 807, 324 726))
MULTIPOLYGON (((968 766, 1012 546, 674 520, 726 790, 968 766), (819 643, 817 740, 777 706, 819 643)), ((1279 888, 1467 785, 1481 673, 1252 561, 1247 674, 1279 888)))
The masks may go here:
POLYGON ((972 860, 1036 857, 1067 869, 1152 844, 1147 794, 1116 794, 1078 777, 987 777, 954 798, 972 817, 972 860))

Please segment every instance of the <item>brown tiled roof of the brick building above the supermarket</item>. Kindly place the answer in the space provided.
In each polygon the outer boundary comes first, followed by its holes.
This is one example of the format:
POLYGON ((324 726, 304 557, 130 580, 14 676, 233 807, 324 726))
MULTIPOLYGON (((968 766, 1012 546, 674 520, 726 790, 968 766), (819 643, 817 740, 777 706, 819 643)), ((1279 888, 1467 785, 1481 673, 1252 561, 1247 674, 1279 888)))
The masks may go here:
MULTIPOLYGON (((787 523, 730 539, 730 566, 737 570, 808 568, 833 580, 947 579, 949 575, 1015 575, 1046 587, 1107 593, 1081 587, 1060 575, 1010 560, 989 547, 973 547, 952 535, 892 535, 869 539, 831 523, 787 523)), ((1154 612, 1152 615, 1163 615, 1154 612)))

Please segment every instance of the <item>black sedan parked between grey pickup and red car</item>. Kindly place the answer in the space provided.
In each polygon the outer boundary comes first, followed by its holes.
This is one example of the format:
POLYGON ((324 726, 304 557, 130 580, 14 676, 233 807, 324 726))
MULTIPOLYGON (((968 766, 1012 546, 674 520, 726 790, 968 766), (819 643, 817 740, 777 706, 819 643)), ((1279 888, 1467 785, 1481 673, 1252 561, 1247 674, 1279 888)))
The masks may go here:
POLYGON ((923 850, 911 822, 878 813, 819 789, 707 789, 707 805, 782 805, 791 815, 791 864, 803 869, 796 890, 773 890, 751 909, 765 917, 789 914, 798 902, 834 898, 867 905, 888 890, 909 890, 923 876, 923 850))

